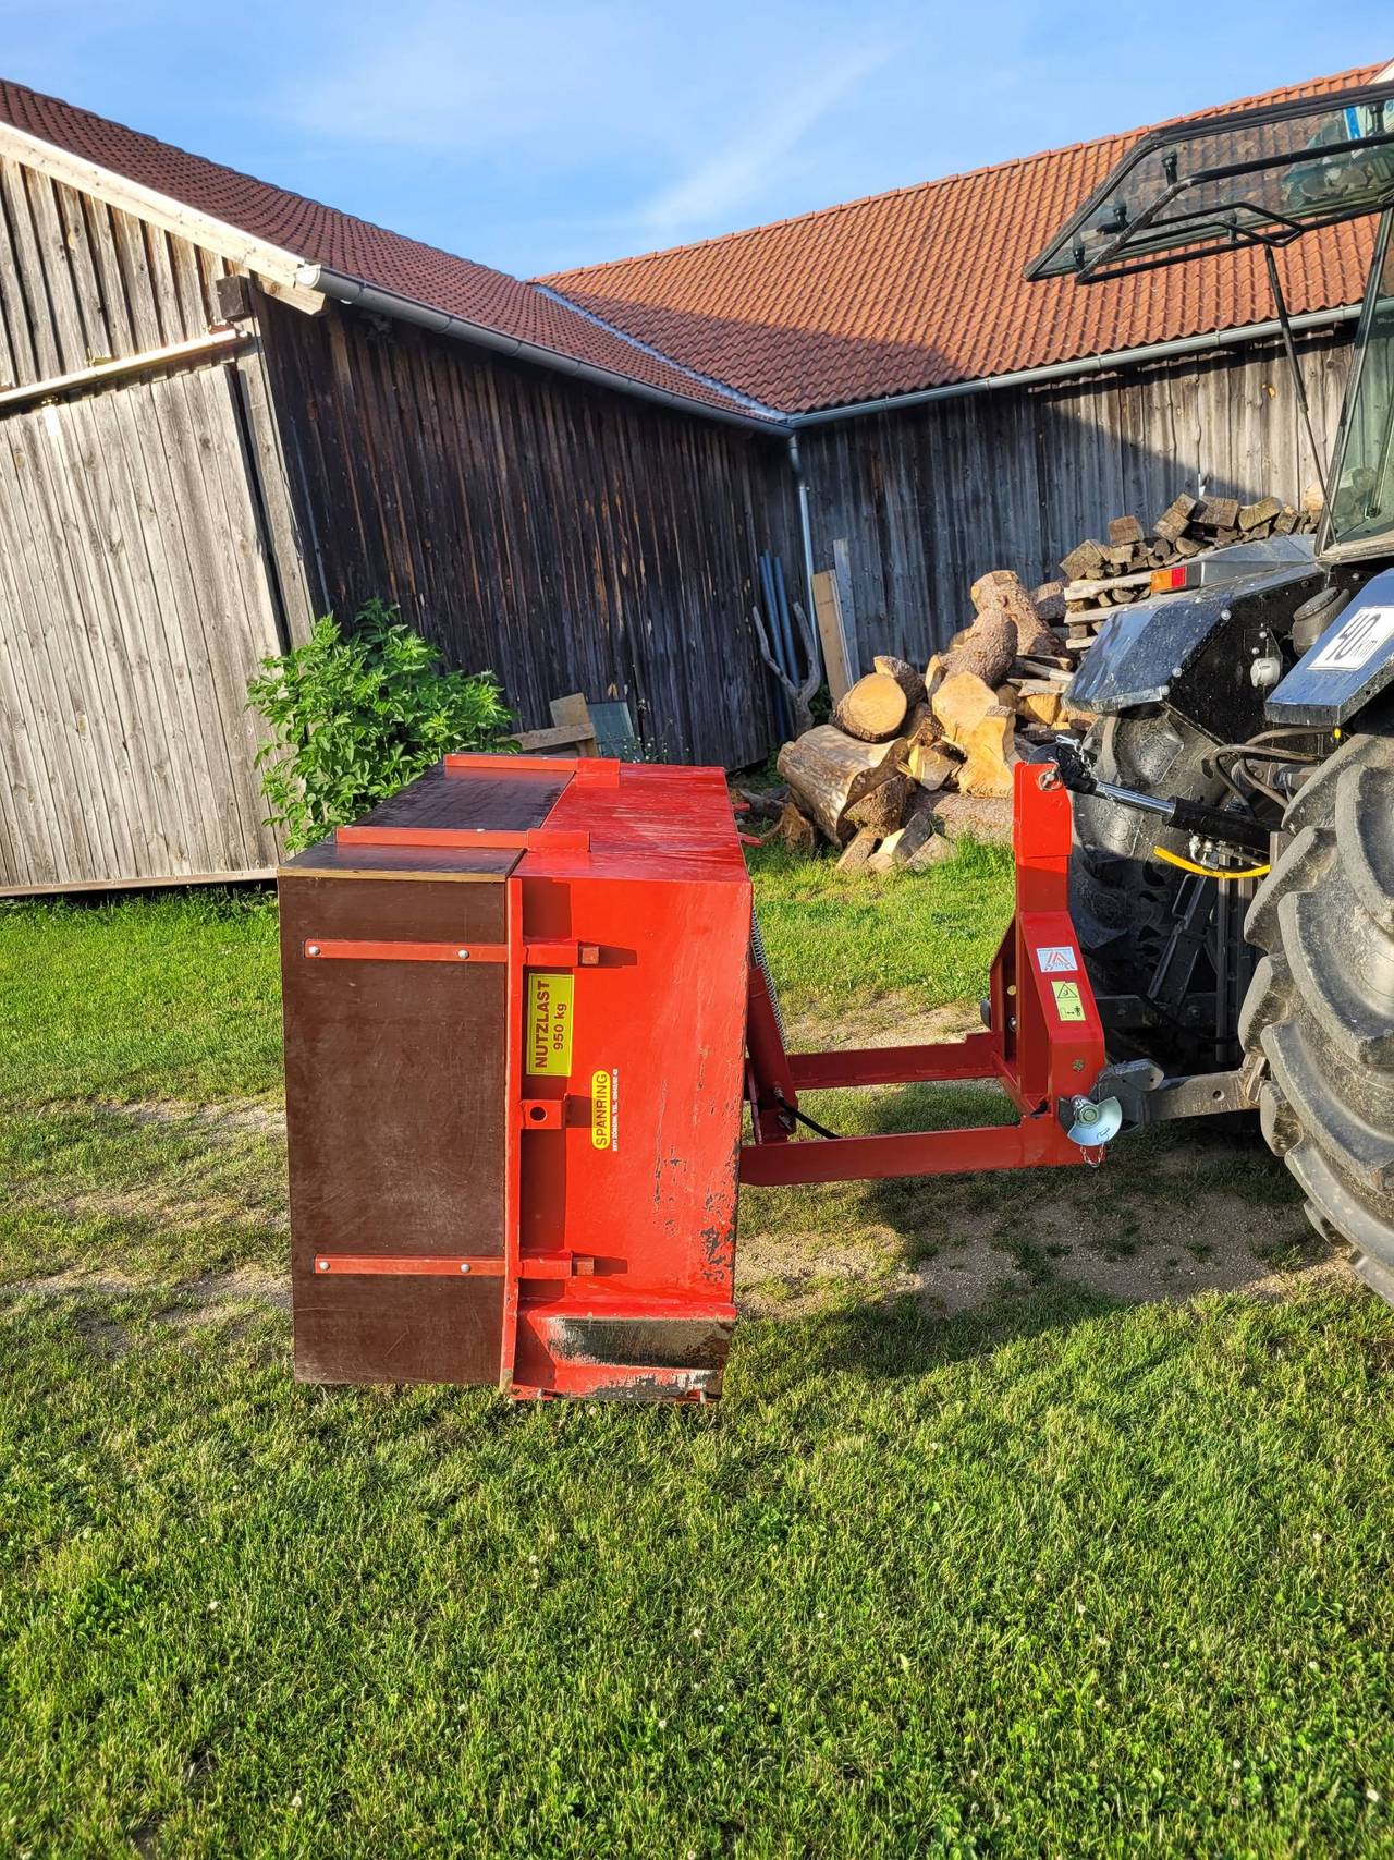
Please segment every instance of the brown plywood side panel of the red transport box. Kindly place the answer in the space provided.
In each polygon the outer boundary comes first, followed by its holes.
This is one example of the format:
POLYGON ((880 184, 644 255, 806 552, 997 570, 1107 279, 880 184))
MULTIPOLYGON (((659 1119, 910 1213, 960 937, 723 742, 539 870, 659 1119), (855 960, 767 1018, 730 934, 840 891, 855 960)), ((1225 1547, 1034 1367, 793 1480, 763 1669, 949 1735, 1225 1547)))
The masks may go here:
POLYGON ((297 1375, 493 1382, 500 1282, 323 1278, 316 1254, 504 1252, 507 969, 314 962, 314 939, 504 943, 507 893, 283 876, 297 1375))

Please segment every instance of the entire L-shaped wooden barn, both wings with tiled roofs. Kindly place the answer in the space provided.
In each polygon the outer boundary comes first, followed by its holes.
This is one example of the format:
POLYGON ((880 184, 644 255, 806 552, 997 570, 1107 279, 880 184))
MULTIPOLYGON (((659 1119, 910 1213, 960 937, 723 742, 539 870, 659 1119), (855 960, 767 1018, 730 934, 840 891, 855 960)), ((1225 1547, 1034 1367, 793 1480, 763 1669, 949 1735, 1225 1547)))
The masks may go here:
MULTIPOLYGON (((1295 498, 1253 255, 1022 283, 1134 140, 522 283, 0 82, 0 891, 268 870, 247 679, 374 595, 524 727, 740 766, 762 551, 924 658, 985 569, 1295 498)), ((1322 448, 1370 236, 1281 257, 1322 448)))

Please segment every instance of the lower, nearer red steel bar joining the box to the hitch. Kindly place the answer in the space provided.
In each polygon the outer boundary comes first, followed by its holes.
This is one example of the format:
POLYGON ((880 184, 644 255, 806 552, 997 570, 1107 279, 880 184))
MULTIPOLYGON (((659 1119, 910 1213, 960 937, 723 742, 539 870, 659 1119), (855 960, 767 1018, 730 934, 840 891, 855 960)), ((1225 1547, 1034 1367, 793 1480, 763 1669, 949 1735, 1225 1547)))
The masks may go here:
POLYGON ((835 1136, 797 1144, 747 1144, 740 1179, 753 1189, 818 1181, 883 1181, 890 1176, 967 1176, 989 1168, 1048 1168, 1098 1161, 1072 1144, 1050 1110, 1020 1123, 913 1136, 835 1136))

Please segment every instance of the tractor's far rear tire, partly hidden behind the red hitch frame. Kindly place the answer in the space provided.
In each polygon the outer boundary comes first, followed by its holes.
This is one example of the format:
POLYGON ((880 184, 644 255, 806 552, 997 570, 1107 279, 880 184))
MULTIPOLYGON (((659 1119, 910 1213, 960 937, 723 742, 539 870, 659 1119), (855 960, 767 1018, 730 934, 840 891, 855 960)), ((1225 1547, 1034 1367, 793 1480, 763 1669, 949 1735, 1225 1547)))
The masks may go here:
MULTIPOLYGON (((1201 768, 1214 750, 1208 737, 1180 718, 1106 716, 1085 748, 1102 781, 1147 794, 1216 802, 1225 787, 1201 768)), ((1074 856, 1071 857, 1071 919, 1084 965, 1097 995, 1145 995, 1167 937, 1182 874, 1152 857, 1152 846, 1188 850, 1186 833, 1160 826, 1154 815, 1134 813, 1100 796, 1074 796, 1074 856)), ((1210 965, 1191 993, 1214 986, 1210 965)), ((1110 1040, 1110 1058, 1145 1053, 1169 1073, 1214 1066, 1214 1030, 1162 1019, 1136 1038, 1110 1040)))

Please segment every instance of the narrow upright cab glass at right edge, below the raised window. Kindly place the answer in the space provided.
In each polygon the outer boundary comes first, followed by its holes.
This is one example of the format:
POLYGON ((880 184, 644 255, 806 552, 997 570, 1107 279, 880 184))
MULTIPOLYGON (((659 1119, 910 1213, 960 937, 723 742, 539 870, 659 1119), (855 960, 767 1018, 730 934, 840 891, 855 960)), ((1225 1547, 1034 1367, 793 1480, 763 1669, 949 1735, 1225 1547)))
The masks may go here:
POLYGON ((1331 471, 1322 551, 1394 530, 1394 240, 1385 219, 1331 471))

